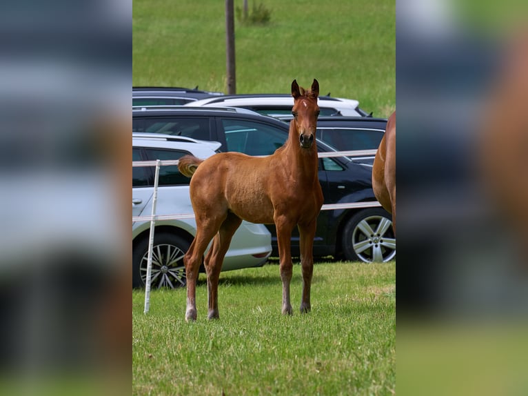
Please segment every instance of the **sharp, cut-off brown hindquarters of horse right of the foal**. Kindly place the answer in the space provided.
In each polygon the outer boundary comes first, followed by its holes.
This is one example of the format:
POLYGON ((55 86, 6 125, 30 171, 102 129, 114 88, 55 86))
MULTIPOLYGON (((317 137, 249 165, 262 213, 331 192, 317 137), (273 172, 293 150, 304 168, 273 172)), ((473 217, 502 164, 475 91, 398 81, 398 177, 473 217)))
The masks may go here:
POLYGON ((396 110, 387 121, 385 135, 374 157, 372 190, 381 206, 392 214, 392 228, 396 235, 396 110))

